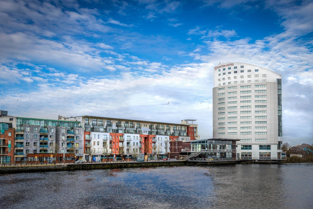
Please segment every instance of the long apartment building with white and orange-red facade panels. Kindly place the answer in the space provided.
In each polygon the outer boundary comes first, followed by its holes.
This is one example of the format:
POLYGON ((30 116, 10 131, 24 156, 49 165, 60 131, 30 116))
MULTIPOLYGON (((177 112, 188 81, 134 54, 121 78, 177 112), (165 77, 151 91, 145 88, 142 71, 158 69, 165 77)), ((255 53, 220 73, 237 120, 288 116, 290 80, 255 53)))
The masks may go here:
POLYGON ((149 160, 168 157, 170 141, 198 138, 197 124, 141 121, 98 116, 63 118, 84 129, 84 159, 149 160))

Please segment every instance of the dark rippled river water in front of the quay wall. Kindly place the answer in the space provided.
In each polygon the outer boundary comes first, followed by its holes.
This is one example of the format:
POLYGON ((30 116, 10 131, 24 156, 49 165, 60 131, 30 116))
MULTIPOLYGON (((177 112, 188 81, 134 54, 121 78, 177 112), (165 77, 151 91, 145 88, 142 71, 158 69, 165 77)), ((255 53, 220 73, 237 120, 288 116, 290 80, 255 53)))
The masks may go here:
POLYGON ((313 208, 313 164, 0 175, 0 208, 313 208))

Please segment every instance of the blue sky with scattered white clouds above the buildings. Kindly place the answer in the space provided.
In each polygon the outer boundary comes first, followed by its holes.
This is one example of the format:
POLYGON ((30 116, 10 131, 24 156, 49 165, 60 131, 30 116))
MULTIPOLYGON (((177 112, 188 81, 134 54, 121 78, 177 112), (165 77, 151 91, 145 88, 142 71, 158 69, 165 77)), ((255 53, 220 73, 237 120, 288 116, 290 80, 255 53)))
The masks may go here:
POLYGON ((213 67, 282 76, 283 142, 313 143, 313 1, 0 0, 0 110, 181 123, 211 138, 213 67))

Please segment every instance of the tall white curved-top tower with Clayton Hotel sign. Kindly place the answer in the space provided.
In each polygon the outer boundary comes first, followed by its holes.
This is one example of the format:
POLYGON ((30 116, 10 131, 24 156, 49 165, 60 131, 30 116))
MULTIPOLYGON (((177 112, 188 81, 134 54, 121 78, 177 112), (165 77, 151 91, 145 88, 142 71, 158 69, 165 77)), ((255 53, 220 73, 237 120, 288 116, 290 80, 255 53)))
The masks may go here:
POLYGON ((213 138, 234 138, 237 158, 281 159, 281 76, 241 62, 214 67, 213 138))

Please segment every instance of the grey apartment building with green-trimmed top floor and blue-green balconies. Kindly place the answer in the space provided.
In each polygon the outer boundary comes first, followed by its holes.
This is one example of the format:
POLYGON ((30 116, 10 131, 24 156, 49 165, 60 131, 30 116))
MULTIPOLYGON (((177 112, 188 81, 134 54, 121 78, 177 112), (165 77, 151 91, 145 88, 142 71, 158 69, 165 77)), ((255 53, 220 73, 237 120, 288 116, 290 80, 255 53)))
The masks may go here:
MULTIPOLYGON (((14 162, 24 163, 27 154, 74 153, 83 157, 83 128, 78 121, 0 117, 0 123, 14 129, 14 162)), ((13 142, 13 141, 11 141, 13 142)))

